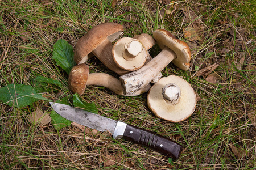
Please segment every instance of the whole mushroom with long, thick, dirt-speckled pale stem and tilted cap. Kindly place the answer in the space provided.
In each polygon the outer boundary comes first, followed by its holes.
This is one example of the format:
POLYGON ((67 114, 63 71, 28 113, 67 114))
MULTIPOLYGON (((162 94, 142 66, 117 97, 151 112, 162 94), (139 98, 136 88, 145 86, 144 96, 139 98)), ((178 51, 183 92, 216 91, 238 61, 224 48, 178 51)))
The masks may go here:
POLYGON ((120 77, 125 95, 133 95, 134 92, 148 86, 171 61, 180 69, 189 69, 191 52, 185 42, 175 39, 169 31, 163 29, 156 29, 153 36, 162 51, 141 69, 120 77))

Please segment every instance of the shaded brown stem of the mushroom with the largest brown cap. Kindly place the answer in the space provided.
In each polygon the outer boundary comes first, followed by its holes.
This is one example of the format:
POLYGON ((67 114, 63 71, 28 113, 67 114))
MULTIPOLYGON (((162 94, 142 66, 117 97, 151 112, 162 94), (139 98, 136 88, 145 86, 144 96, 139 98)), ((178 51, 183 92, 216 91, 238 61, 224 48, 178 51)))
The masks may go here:
POLYGON ((106 67, 108 67, 110 70, 114 71, 115 73, 119 75, 129 73, 129 71, 123 70, 120 67, 118 67, 117 64, 114 62, 114 59, 112 57, 112 48, 113 48, 112 43, 108 39, 106 39, 104 42, 98 45, 97 48, 92 51, 92 53, 102 63, 104 63, 106 67))

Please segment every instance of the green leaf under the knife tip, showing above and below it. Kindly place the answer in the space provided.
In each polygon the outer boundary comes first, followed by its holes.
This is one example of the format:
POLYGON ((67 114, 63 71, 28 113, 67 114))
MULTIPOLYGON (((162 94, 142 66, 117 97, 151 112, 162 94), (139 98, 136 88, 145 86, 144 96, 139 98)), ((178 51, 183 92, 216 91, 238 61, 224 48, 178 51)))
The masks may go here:
MULTIPOLYGON (((61 103, 61 104, 66 104, 66 105, 69 105, 68 104, 68 96, 64 97, 63 99, 61 100, 57 100, 55 101, 56 103, 61 103)), ((70 126, 71 125, 71 121, 70 120, 67 120, 66 118, 60 116, 60 114, 58 114, 57 112, 55 112, 53 109, 51 111, 51 114, 50 114, 51 118, 52 118, 52 124, 53 124, 53 127, 56 129, 56 130, 60 130, 66 126, 70 126)))

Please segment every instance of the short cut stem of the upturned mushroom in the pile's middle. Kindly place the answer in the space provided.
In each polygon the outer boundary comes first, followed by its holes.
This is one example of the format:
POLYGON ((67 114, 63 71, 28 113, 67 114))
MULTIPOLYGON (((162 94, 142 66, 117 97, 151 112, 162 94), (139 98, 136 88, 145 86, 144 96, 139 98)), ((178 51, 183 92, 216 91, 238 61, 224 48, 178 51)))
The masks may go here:
POLYGON ((125 51, 123 52, 123 58, 127 61, 133 60, 139 53, 142 52, 142 44, 139 41, 131 41, 125 44, 125 51))

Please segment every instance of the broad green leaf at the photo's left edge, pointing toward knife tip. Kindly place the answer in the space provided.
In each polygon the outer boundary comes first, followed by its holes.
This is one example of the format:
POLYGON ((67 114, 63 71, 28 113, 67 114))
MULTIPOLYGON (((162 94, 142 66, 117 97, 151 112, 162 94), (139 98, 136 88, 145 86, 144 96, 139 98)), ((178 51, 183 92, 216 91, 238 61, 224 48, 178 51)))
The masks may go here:
POLYGON ((18 108, 31 105, 38 100, 48 100, 30 85, 24 84, 9 84, 0 88, 0 100, 10 107, 15 106, 18 108))

